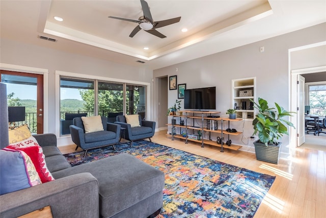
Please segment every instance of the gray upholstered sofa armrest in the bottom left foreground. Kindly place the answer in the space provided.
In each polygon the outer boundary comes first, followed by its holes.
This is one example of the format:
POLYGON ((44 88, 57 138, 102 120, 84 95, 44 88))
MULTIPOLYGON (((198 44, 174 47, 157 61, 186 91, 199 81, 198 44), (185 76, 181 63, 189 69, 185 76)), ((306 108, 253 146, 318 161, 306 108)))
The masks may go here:
POLYGON ((17 217, 51 206, 53 217, 98 217, 99 186, 80 173, 2 195, 0 216, 17 217))

